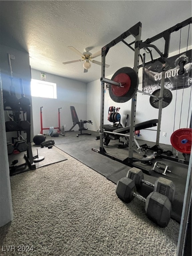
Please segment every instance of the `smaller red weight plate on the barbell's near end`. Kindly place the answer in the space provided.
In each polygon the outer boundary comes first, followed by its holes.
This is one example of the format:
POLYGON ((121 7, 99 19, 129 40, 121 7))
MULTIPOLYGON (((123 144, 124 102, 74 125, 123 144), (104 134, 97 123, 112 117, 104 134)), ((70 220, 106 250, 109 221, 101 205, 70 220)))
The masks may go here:
POLYGON ((120 73, 113 78, 113 81, 122 83, 122 87, 118 87, 115 85, 111 86, 111 91, 115 96, 122 97, 126 93, 128 93, 131 87, 131 79, 129 75, 125 73, 120 73))

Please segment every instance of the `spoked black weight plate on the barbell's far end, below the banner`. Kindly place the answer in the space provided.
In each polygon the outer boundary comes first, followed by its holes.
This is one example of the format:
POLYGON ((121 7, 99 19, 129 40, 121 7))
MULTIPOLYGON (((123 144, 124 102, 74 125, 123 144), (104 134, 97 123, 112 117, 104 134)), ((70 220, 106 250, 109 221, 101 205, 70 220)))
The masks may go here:
MULTIPOLYGON (((152 95, 159 97, 160 96, 160 89, 155 90, 152 95)), ((166 88, 163 90, 163 102, 162 108, 166 108, 172 101, 173 95, 172 92, 166 88)), ((150 97, 149 102, 153 108, 159 108, 159 99, 150 97)))

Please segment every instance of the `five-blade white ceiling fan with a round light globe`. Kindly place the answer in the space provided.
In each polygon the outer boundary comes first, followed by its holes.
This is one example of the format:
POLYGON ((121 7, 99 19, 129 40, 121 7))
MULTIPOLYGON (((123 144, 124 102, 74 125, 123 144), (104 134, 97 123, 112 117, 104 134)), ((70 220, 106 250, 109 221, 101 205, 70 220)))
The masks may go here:
MULTIPOLYGON (((75 53, 77 53, 78 55, 81 56, 81 60, 72 60, 72 61, 67 61, 67 62, 63 62, 63 64, 69 64, 69 63, 74 63, 74 62, 78 62, 78 61, 85 61, 83 63, 83 67, 84 67, 84 73, 88 72, 88 69, 91 67, 91 62, 97 64, 97 65, 102 65, 102 63, 100 61, 97 60, 93 60, 93 58, 96 58, 98 56, 101 55, 101 50, 92 54, 89 52, 89 48, 85 48, 85 52, 84 53, 80 53, 77 49, 75 49, 73 46, 68 46, 68 48, 72 51, 74 51, 75 53)), ((109 65, 105 64, 105 67, 108 68, 109 65)))

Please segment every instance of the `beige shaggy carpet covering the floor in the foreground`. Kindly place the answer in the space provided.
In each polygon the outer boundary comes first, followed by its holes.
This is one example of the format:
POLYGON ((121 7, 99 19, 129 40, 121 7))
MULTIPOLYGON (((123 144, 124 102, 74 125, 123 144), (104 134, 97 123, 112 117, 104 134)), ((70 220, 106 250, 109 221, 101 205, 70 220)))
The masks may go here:
POLYGON ((177 222, 158 227, 147 218, 144 202, 124 204, 114 183, 53 150, 68 160, 10 177, 14 220, 1 228, 0 248, 16 251, 0 255, 176 255, 177 222), (18 252, 27 245, 33 251, 18 252))

